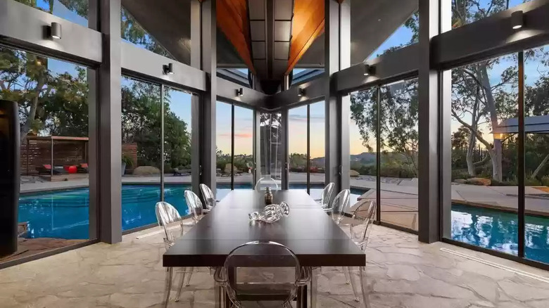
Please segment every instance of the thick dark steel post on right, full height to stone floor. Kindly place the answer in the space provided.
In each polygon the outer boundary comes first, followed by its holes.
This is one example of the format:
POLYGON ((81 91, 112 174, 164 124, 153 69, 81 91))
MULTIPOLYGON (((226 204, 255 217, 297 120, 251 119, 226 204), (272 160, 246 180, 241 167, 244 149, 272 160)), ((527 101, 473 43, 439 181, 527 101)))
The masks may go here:
POLYGON ((440 32, 439 1, 419 0, 419 240, 432 243, 441 238, 439 207, 440 75, 431 65, 431 39, 440 32))

